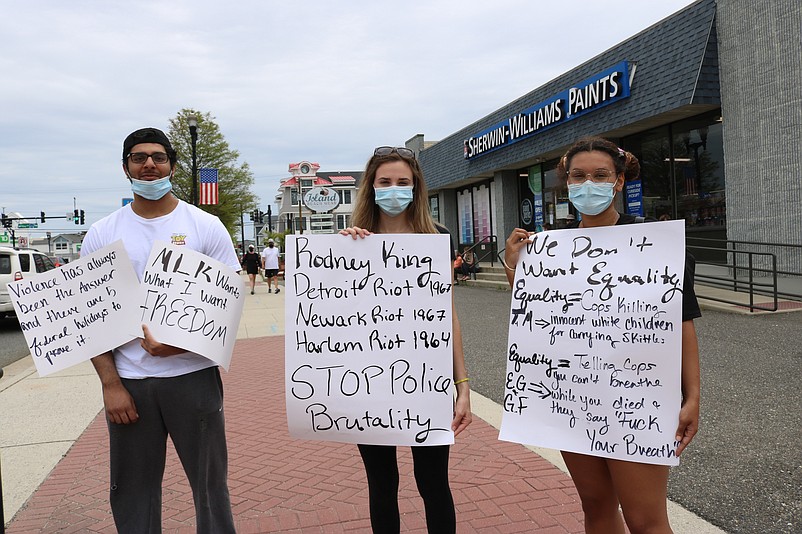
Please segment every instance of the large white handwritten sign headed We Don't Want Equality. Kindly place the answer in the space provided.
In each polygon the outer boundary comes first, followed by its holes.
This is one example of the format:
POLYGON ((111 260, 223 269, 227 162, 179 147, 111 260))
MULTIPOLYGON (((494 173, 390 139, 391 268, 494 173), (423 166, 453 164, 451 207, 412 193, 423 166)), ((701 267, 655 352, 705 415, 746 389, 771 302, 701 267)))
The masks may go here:
POLYGON ((676 465, 682 221, 532 236, 515 273, 499 438, 676 465))

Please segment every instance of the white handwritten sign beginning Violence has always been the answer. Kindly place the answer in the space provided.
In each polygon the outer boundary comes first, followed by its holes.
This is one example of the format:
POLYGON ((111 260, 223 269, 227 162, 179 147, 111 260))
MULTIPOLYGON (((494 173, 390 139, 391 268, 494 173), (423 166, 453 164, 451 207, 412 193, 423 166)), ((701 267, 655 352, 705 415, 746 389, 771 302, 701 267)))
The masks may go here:
POLYGON ((8 284, 40 376, 131 341, 138 281, 122 241, 8 284))

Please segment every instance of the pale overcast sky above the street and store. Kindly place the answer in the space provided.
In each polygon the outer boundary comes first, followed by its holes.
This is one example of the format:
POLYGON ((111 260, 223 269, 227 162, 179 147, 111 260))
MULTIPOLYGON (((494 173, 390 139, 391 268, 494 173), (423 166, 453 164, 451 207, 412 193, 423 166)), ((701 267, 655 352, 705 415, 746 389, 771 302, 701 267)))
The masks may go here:
MULTIPOLYGON (((0 207, 130 197, 122 141, 209 112, 260 206, 290 163, 358 171, 376 146, 438 140, 690 0, 11 0, 0 18, 0 207)), ((36 234, 33 237, 38 237, 36 234)))

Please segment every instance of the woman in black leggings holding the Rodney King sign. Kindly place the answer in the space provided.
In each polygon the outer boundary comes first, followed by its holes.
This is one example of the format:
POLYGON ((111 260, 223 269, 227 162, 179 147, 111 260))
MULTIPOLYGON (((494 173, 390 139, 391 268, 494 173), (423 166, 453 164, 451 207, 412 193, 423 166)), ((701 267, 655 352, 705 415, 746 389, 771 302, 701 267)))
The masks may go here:
MULTIPOLYGON (((368 160, 351 221, 353 227, 340 234, 354 239, 379 234, 448 233, 432 220, 428 195, 415 153, 408 148, 379 147, 368 160)), ((454 250, 453 246, 451 250, 454 250)), ((454 258, 452 257, 452 260, 454 258)), ((451 428, 459 435, 471 423, 470 388, 465 369, 457 310, 452 293, 454 340, 453 373, 457 389, 451 428)), ((396 448, 387 445, 359 445, 365 464, 370 499, 370 523, 374 533, 397 533, 398 463, 396 448)), ((456 532, 454 500, 448 484, 448 445, 412 447, 415 481, 423 498, 429 532, 456 532)))

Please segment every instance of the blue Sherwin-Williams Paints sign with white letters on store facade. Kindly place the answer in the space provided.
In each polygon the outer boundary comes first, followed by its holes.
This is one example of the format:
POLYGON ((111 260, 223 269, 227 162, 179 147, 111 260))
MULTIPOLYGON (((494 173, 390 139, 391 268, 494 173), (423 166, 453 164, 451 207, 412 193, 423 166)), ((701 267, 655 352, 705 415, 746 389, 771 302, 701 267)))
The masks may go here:
POLYGON ((622 61, 468 138, 465 159, 483 156, 628 96, 629 65, 622 61))

